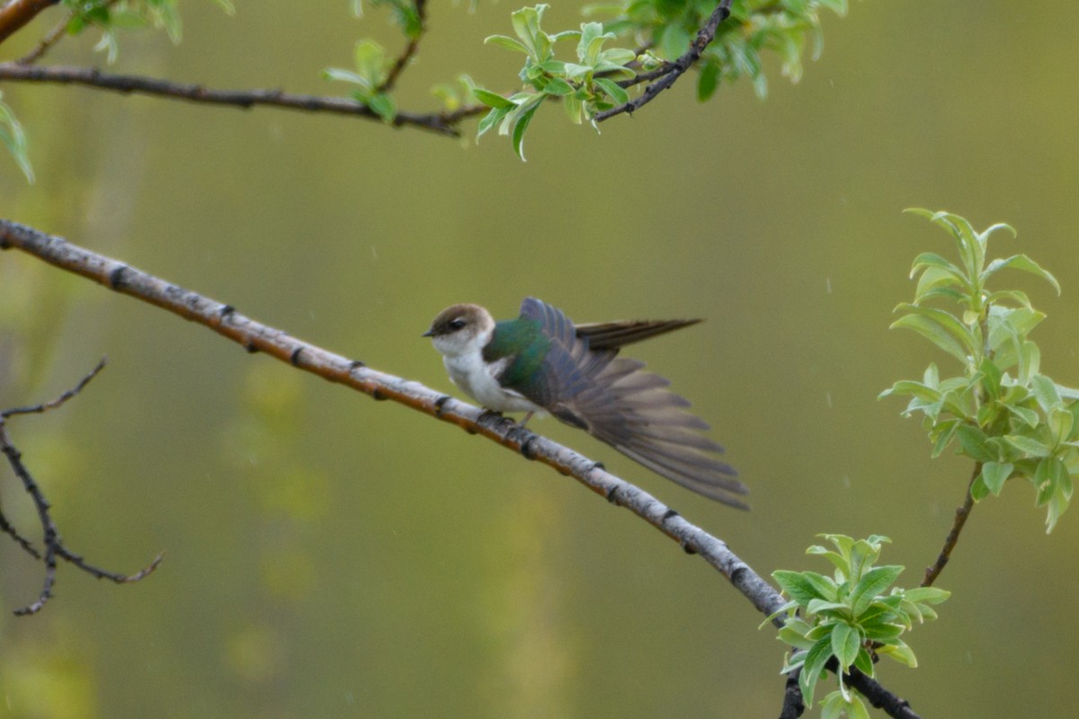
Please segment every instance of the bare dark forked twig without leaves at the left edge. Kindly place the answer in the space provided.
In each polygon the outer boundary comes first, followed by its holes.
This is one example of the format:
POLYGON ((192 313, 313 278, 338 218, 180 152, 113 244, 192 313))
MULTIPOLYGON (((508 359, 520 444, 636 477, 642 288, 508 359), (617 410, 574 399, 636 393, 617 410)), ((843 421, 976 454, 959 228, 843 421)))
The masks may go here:
POLYGON ((49 500, 45 499, 41 487, 38 485, 33 475, 30 474, 30 470, 26 467, 23 461, 23 454, 11 441, 11 435, 8 433, 8 418, 16 415, 23 414, 40 414, 42 412, 47 412, 49 410, 54 410, 69 399, 82 391, 82 389, 90 384, 90 381, 97 376, 97 374, 105 368, 105 359, 103 358, 100 362, 85 377, 83 377, 78 385, 73 388, 65 391, 63 395, 50 402, 43 402, 41 404, 35 404, 30 406, 13 407, 11 410, 4 410, 0 412, 0 452, 8 458, 8 464, 11 465, 12 470, 15 475, 18 476, 23 482, 23 487, 26 489, 27 494, 33 500, 35 508, 38 510, 38 521, 41 523, 41 529, 43 534, 44 553, 39 553, 18 531, 8 522, 8 518, 0 513, 0 530, 3 530, 10 535, 16 542, 31 556, 36 559, 40 559, 45 565, 45 579, 41 587, 41 593, 38 595, 38 599, 22 609, 16 609, 15 613, 18 616, 33 614, 41 610, 45 606, 45 603, 53 596, 53 586, 56 583, 56 559, 60 558, 65 562, 74 565, 79 569, 82 569, 86 573, 96 577, 97 579, 108 579, 118 584, 136 582, 151 571, 158 568, 161 564, 163 555, 158 555, 158 557, 150 563, 149 566, 141 569, 134 575, 121 575, 118 572, 109 571, 107 569, 101 569, 92 564, 85 562, 82 556, 76 554, 69 550, 60 538, 59 529, 56 523, 53 521, 50 510, 52 506, 49 500))

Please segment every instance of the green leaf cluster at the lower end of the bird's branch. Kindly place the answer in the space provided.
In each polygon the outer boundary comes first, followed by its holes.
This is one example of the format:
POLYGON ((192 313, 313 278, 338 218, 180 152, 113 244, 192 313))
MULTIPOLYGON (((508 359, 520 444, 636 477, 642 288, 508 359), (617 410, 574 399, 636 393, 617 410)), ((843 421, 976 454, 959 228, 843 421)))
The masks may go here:
POLYGON ((916 666, 914 652, 901 637, 914 622, 937 619, 930 605, 944 602, 950 593, 930 586, 910 590, 891 586, 903 567, 874 566, 882 545, 890 541, 887 537, 873 535, 855 540, 845 535, 819 536, 835 550, 814 545, 806 553, 831 562, 835 566, 833 576, 815 571, 773 572, 791 600, 768 620, 786 614, 778 638, 794 651, 782 672, 801 669, 798 687, 806 705, 812 704, 817 681, 834 658, 839 667, 839 689, 824 697, 821 716, 868 717, 865 706, 844 683, 843 675, 853 666, 874 676, 875 656, 916 666))

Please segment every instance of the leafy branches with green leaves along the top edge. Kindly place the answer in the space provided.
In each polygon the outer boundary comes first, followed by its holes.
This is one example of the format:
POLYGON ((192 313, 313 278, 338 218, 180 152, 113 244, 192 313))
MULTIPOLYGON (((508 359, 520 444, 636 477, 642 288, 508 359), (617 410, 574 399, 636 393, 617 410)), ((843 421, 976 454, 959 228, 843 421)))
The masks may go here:
MULTIPOLYGON (((229 0, 215 2, 229 14, 235 12, 229 0)), ((561 102, 573 123, 598 126, 615 115, 639 110, 692 68, 700 70, 697 96, 701 100, 711 97, 721 81, 734 82, 742 77, 763 96, 767 80, 761 53, 778 53, 782 73, 796 81, 807 39, 816 44, 815 55, 820 52, 820 11, 827 9, 841 15, 847 11, 847 0, 693 0, 673 4, 625 0, 583 9, 586 13, 605 14, 603 22, 588 22, 579 30, 548 34, 541 27, 547 5, 522 8, 510 16, 516 39, 488 38, 488 42, 525 54, 519 73, 524 82, 522 91, 503 95, 477 87, 467 73, 462 73, 432 88, 441 109, 416 112, 399 109, 393 91, 426 37, 427 0, 371 0, 370 4, 390 11, 405 37, 405 46, 392 56, 373 40, 357 41, 353 68, 322 71, 326 79, 352 85, 344 97, 283 89, 220 89, 205 83, 110 73, 99 67, 38 66, 64 38, 88 30, 100 31, 96 49, 106 53, 109 64, 120 52, 121 29, 161 29, 173 42, 179 42, 177 0, 9 0, 0 6, 0 44, 51 6, 62 6, 66 14, 29 53, 0 63, 0 83, 66 84, 217 106, 347 114, 448 137, 459 137, 465 120, 487 113, 477 137, 498 126, 500 134, 513 137, 514 150, 523 158, 524 134, 544 100, 561 102), (565 39, 578 41, 575 61, 555 57, 555 44, 565 39), (602 47, 623 40, 632 41, 633 49, 602 47), (638 86, 643 86, 641 94, 631 97, 630 92, 638 86)), ((353 11, 361 15, 361 3, 354 2, 353 11)), ((26 132, 14 109, 2 99, 0 142, 32 181, 26 132)))

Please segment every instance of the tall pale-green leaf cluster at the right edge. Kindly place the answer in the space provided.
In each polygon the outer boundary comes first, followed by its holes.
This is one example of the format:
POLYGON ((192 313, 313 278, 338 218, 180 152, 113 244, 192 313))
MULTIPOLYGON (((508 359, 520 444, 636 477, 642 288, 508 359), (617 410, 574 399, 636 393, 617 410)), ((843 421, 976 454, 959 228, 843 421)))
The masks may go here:
POLYGON ((1020 269, 1060 284, 1025 254, 987 260, 995 224, 979 233, 950 212, 912 212, 943 227, 955 240, 959 261, 934 252, 914 260, 918 284, 913 303, 897 307, 892 327, 913 330, 958 362, 958 374, 941 377, 930 364, 920 382, 904 379, 880 397, 910 397, 903 414, 921 414, 933 456, 957 444, 979 462, 971 496, 999 495, 1012 478, 1030 481, 1037 506, 1047 508, 1052 530, 1067 509, 1073 474, 1079 472, 1079 390, 1056 384, 1040 371, 1041 352, 1029 333, 1044 319, 1025 292, 989 288, 1001 269, 1020 269))

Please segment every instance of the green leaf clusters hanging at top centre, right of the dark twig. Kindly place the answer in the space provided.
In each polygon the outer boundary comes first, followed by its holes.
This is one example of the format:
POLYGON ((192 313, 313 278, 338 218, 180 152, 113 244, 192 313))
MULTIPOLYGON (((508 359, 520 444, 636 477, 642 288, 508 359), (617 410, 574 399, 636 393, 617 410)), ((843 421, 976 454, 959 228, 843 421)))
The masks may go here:
MULTIPOLYGON (((626 87, 637 79, 637 70, 669 67, 689 50, 715 4, 715 0, 628 0, 588 5, 587 16, 602 16, 605 22, 555 33, 541 27, 547 5, 516 11, 511 15, 516 38, 491 36, 487 42, 524 54, 519 73, 524 86, 508 97, 486 88, 476 92, 476 99, 491 108, 477 137, 497 125, 498 134, 511 137, 514 151, 523 160, 524 134, 544 100, 561 101, 573 123, 588 122, 595 127, 597 114, 629 101, 626 87), (575 61, 555 57, 556 43, 566 39, 577 40, 575 61), (639 50, 602 50, 603 43, 615 40, 631 41, 639 50)), ((783 75, 797 82, 807 39, 814 42, 815 58, 820 54, 822 9, 843 15, 847 0, 734 2, 730 17, 700 56, 698 98, 711 97, 721 80, 734 82, 741 77, 750 78, 763 97, 767 79, 761 56, 766 51, 778 53, 783 75)))

